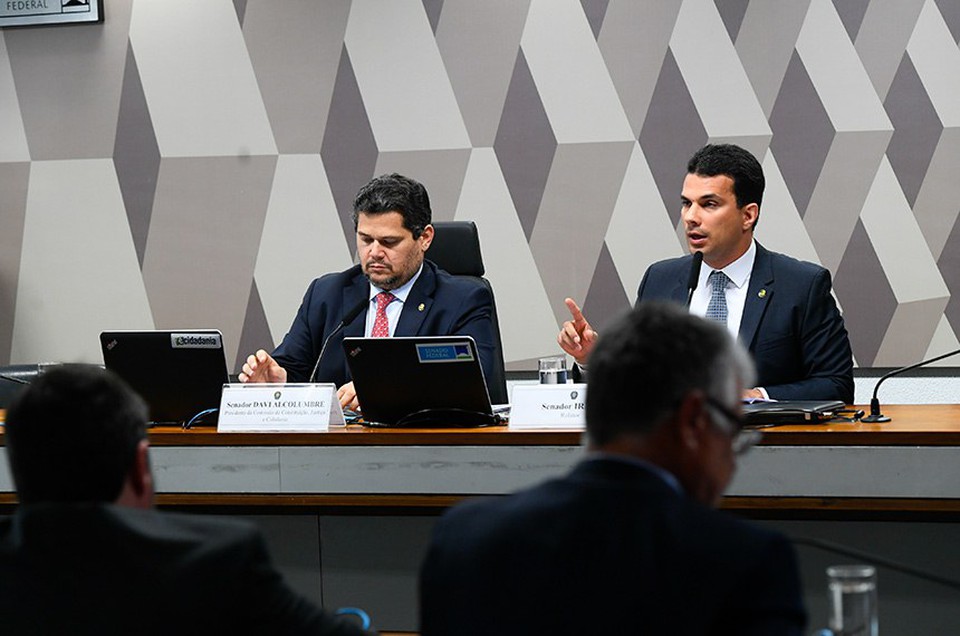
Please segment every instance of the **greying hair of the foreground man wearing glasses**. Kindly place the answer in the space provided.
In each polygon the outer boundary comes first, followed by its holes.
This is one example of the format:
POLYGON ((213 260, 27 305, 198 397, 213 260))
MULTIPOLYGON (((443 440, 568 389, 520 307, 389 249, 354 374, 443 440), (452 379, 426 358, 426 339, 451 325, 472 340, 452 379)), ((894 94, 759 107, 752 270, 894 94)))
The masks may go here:
POLYGON ((730 403, 752 375, 746 353, 718 323, 679 305, 643 302, 604 330, 590 354, 590 441, 648 433, 691 391, 730 403))

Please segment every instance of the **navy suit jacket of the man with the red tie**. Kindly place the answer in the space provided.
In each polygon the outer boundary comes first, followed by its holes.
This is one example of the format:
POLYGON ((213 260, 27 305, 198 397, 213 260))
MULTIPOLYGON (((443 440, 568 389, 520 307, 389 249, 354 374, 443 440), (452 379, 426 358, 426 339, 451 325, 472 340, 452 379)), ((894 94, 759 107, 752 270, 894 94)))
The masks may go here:
MULTIPOLYGON (((345 314, 369 301, 370 283, 359 265, 313 281, 297 317, 273 352, 287 370, 289 382, 306 382, 320 355, 320 347, 345 314)), ((368 304, 369 306, 369 304, 368 304)), ((394 335, 472 336, 477 343, 485 378, 493 376, 493 304, 490 292, 477 281, 451 276, 430 261, 423 262, 420 278, 410 290, 394 335)), ((343 355, 343 336, 363 336, 367 308, 335 336, 317 369, 318 382, 337 386, 351 380, 343 355)))

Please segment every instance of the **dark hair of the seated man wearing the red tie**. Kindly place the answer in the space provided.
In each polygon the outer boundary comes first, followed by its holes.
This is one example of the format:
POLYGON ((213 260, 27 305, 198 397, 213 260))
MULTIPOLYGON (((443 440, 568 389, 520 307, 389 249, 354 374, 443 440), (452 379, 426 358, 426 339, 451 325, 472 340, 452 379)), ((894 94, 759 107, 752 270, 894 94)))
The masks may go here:
POLYGON ((353 228, 357 228, 361 213, 384 212, 399 212, 403 216, 403 227, 410 230, 413 238, 420 238, 433 219, 427 189, 420 182, 397 173, 380 175, 360 188, 353 200, 353 228))

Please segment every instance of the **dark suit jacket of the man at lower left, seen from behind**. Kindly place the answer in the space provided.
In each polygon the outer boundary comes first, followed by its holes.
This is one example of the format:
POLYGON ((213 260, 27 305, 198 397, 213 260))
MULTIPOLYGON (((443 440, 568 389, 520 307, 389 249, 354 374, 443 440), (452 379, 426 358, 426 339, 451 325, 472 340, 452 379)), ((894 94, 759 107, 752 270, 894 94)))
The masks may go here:
POLYGON ((0 522, 4 634, 358 635, 294 593, 240 521, 106 504, 0 522))

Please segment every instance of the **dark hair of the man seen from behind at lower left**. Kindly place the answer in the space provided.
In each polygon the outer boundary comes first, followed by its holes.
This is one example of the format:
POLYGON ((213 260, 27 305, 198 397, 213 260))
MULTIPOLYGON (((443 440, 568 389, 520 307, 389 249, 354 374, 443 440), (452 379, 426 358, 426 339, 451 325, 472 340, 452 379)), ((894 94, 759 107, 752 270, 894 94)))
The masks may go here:
POLYGON ((20 502, 112 502, 146 439, 147 406, 91 365, 38 376, 7 410, 6 444, 20 502))

